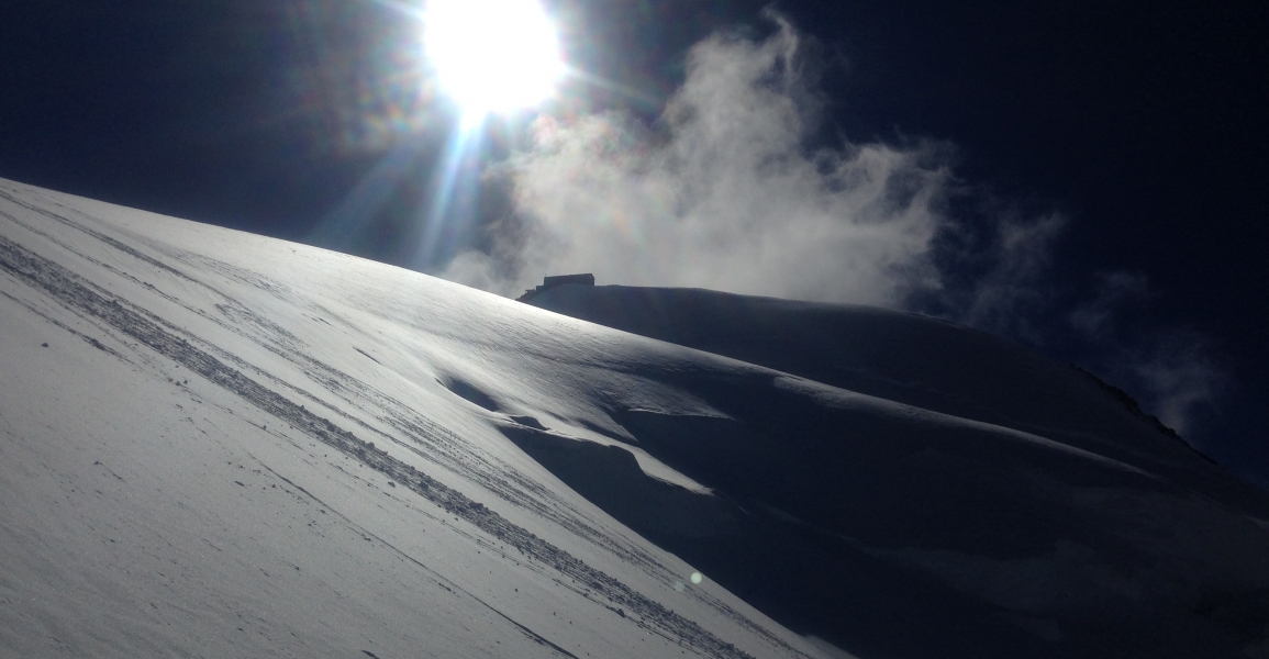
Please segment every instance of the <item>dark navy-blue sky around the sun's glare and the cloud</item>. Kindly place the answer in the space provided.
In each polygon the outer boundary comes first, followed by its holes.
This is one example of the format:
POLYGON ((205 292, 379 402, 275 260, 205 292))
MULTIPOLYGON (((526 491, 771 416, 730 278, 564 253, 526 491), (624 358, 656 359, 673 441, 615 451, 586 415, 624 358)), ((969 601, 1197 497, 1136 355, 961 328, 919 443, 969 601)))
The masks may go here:
MULTIPOLYGON (((758 1, 555 6, 571 17, 577 62, 652 99, 596 91, 593 107, 626 105, 648 119, 655 99, 681 80, 688 46, 737 24, 764 29, 758 1)), ((1068 218, 1039 291, 1053 303, 1032 311, 1034 324, 1051 328, 1042 349, 1098 369, 1138 335, 1202 336, 1231 385, 1199 413, 1192 438, 1235 470, 1269 480, 1261 335, 1269 321, 1261 258, 1269 248, 1269 5, 775 6, 816 41, 824 140, 947 140, 962 180, 980 190, 959 212, 990 212, 990 196, 1068 218), (1143 277, 1148 293, 1123 302, 1114 342, 1090 347, 1062 330, 1060 316, 1095 297, 1109 272, 1143 277)), ((402 245, 418 231, 412 208, 426 194, 452 117, 406 118, 405 127, 378 133, 349 117, 374 103, 365 86, 382 83, 391 60, 383 44, 411 29, 382 5, 354 0, 8 8, 0 176, 316 240, 321 217, 409 142, 415 155, 395 165, 388 203, 327 246, 410 263, 402 245)), ((476 239, 456 235, 450 246, 476 239)), ((972 279, 973 267, 962 274, 972 279)), ((1132 391, 1133 382, 1114 383, 1132 391)))

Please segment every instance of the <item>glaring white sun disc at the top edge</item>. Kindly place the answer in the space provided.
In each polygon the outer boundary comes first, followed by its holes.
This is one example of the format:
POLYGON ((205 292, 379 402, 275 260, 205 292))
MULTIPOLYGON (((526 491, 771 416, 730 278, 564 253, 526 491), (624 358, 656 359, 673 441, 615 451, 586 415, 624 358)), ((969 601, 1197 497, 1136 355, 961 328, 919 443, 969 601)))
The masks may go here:
POLYGON ((555 25, 537 0, 428 0, 424 48, 468 117, 541 103, 563 75, 555 25))

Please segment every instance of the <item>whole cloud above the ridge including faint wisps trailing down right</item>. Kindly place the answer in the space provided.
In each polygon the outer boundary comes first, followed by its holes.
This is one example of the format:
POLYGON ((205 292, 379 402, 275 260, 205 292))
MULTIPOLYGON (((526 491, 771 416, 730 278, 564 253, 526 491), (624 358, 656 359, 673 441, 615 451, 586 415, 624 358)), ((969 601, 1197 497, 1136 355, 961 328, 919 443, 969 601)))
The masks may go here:
POLYGON ((1110 331, 1118 307, 1096 328, 1085 321, 1105 295, 1056 281, 1066 217, 1028 216, 957 180, 947 142, 812 147, 821 98, 797 30, 769 17, 765 39, 720 34, 693 47, 651 127, 617 112, 538 118, 529 149, 486 171, 509 203, 483 249, 442 276, 506 296, 543 274, 593 272, 605 283, 909 309, 1108 373, 1174 428, 1211 411, 1221 387, 1206 383, 1226 375, 1203 342, 1179 361, 1152 345, 1184 330, 1110 331), (1180 386, 1194 373, 1203 386, 1180 386))

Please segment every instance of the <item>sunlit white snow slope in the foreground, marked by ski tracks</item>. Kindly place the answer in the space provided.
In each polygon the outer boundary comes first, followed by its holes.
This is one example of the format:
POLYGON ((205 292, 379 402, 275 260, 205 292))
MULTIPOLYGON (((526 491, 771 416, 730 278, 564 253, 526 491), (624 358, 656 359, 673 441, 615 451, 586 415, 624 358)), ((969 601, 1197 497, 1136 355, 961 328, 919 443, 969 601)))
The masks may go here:
POLYGON ((3 183, 0 655, 819 656, 499 432, 699 408, 648 345, 3 183))

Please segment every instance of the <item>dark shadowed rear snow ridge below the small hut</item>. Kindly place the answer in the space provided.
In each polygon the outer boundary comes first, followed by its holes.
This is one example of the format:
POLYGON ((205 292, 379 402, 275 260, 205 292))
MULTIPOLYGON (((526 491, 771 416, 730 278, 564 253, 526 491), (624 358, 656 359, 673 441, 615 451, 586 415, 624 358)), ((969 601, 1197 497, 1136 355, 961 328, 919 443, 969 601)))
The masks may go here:
POLYGON ((1041 434, 1253 505, 1263 490, 1200 457, 1094 376, 919 314, 693 288, 563 286, 529 303, 850 391, 1041 434))

